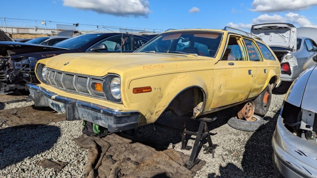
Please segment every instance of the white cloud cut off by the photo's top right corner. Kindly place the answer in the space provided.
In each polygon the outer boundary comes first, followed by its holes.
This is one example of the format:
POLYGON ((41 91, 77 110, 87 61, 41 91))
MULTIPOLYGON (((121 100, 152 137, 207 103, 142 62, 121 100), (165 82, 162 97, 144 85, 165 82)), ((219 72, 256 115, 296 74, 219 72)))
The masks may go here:
POLYGON ((282 12, 308 9, 313 5, 317 5, 317 0, 254 0, 251 10, 258 12, 282 12))

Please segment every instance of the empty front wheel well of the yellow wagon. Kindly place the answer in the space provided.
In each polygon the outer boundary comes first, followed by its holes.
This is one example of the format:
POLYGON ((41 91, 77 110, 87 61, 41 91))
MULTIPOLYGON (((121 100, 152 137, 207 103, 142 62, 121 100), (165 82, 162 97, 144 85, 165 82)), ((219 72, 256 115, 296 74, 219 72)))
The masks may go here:
POLYGON ((198 87, 188 88, 177 95, 168 106, 177 116, 193 114, 194 109, 203 109, 204 92, 198 87))

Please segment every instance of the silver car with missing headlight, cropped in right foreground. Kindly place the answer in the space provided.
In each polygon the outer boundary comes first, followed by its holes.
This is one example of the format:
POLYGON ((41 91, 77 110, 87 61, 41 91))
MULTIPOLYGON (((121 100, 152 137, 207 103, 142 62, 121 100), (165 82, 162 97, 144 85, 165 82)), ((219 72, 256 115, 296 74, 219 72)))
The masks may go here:
POLYGON ((277 177, 317 176, 317 67, 310 67, 290 86, 272 137, 277 177))

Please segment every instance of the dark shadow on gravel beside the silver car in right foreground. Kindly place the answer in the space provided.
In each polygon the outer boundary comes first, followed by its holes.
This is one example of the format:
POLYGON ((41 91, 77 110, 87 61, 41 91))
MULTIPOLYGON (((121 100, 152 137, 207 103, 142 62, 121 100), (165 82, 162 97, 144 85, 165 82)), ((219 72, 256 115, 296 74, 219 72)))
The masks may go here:
POLYGON ((265 127, 255 131, 244 147, 242 169, 235 163, 219 166, 219 175, 209 173, 208 178, 220 177, 274 177, 272 136, 276 127, 279 111, 273 117, 264 117, 265 127))

